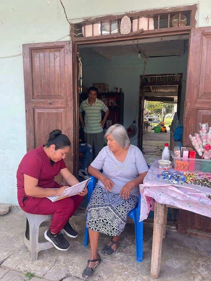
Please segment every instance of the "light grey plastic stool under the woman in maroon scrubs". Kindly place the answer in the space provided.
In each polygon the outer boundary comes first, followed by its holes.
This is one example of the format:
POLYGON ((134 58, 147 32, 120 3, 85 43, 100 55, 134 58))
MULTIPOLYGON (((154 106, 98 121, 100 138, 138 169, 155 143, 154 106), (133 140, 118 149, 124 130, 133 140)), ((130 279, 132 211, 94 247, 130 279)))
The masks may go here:
MULTIPOLYGON (((52 215, 34 215, 26 213, 26 230, 24 243, 29 249, 31 261, 38 259, 38 252, 41 250, 50 249, 53 244, 49 241, 39 243, 39 227, 42 222, 51 220, 52 215)), ((42 226, 45 226, 43 223, 42 226)))

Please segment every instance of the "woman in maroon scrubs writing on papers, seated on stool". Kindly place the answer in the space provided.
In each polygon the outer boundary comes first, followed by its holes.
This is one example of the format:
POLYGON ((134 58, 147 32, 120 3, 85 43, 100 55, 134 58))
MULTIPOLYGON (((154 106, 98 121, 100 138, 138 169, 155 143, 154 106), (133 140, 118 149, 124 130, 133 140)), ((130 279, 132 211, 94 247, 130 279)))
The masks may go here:
POLYGON ((47 196, 60 196, 67 186, 54 181, 59 173, 72 186, 79 181, 67 169, 64 158, 70 150, 70 140, 58 129, 50 133, 45 145, 30 150, 21 160, 17 170, 17 196, 20 207, 26 213, 51 215, 51 225, 45 231, 45 239, 56 249, 65 251, 69 242, 60 232, 76 238, 78 233, 69 224, 87 194, 87 189, 75 196, 52 202, 47 196))

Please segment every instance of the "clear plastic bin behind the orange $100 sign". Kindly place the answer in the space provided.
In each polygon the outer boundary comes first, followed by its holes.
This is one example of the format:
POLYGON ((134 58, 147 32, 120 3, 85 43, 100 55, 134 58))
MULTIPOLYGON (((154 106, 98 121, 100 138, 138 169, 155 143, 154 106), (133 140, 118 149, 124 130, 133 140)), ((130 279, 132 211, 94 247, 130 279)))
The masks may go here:
POLYGON ((188 172, 211 172, 211 160, 206 160, 202 158, 186 158, 186 160, 183 160, 182 157, 176 158, 174 156, 172 156, 172 159, 174 163, 174 168, 176 168, 176 160, 179 160, 189 163, 188 172))

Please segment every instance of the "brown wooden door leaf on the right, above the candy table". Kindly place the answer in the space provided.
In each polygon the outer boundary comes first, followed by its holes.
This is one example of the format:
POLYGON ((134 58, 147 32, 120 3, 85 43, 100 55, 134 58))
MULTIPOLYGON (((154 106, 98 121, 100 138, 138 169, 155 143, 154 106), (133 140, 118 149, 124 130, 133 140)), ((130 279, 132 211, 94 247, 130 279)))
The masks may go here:
MULTIPOLYGON (((183 146, 191 146, 189 134, 211 114, 211 27, 193 28, 190 33, 183 146)), ((207 121, 206 121, 207 122, 207 121)))

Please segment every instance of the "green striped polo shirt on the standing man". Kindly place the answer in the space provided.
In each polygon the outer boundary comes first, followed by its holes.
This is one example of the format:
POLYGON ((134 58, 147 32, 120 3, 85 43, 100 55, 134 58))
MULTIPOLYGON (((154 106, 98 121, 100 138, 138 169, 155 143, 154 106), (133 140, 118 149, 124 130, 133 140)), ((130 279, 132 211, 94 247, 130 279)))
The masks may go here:
POLYGON ((106 112, 108 107, 104 102, 96 98, 96 102, 93 105, 89 104, 89 98, 81 102, 79 106, 79 112, 85 112, 84 121, 86 127, 84 128, 85 133, 95 134, 101 133, 103 128, 101 127, 101 110, 106 112))

